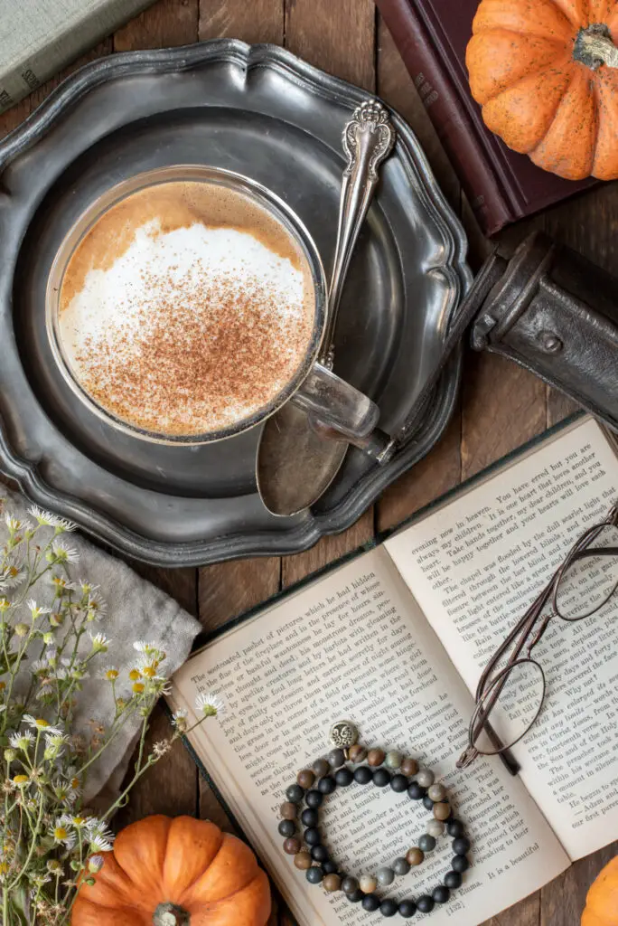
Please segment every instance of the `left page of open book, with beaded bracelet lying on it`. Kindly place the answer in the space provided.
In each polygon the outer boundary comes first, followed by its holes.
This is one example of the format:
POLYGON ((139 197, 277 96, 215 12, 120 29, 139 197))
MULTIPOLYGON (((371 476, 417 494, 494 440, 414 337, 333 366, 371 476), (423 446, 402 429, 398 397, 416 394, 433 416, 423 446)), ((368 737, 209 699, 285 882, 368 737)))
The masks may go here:
MULTIPOLYGON (((448 786, 473 845, 473 865, 450 902, 432 913, 433 926, 453 915, 460 926, 476 926, 568 865, 522 783, 500 763, 455 770, 472 699, 384 549, 208 645, 176 674, 172 699, 192 711, 201 691, 220 694, 227 710, 199 728, 194 748, 303 924, 375 922, 376 914, 307 882, 278 834, 286 788, 328 754, 337 720, 352 720, 365 745, 426 763, 448 786)), ((358 876, 405 855, 431 815, 405 793, 354 782, 326 799, 321 816, 332 856, 358 876)), ((385 895, 401 900, 431 891, 451 857, 445 834, 385 895)))

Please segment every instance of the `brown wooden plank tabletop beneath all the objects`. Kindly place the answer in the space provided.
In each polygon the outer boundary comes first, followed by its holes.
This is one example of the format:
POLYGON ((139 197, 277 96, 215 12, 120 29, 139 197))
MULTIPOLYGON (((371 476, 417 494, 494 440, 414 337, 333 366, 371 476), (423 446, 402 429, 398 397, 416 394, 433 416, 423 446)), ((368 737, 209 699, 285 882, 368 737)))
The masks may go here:
MULTIPOLYGON (((473 269, 478 267, 488 245, 469 218, 459 184, 373 0, 159 0, 66 73, 87 60, 114 52, 189 44, 221 36, 283 44, 317 67, 376 92, 398 109, 420 138, 442 189, 464 219, 471 243, 470 262, 473 269)), ((57 82, 50 81, 0 116, 0 134, 25 119, 57 82)), ((532 221, 513 226, 501 238, 514 244, 530 228, 542 228, 612 269, 618 257, 617 227, 618 185, 606 184, 532 221)), ((392 485, 349 531, 328 537, 307 553, 294 557, 248 559, 204 569, 133 565, 198 615, 204 627, 214 628, 365 543, 378 530, 397 523, 543 432, 572 408, 568 400, 513 364, 496 357, 469 354, 465 359, 461 403, 439 445, 426 460, 392 485)), ((163 712, 155 710, 151 738, 166 736, 167 729, 163 712)), ((150 813, 192 814, 230 829, 221 807, 179 744, 135 789, 120 822, 150 813)), ((611 836, 608 833, 608 839, 611 836)), ((578 862, 538 894, 490 923, 575 926, 584 906, 587 885, 615 851, 608 846, 578 862)), ((271 923, 287 926, 291 922, 276 898, 271 923)))

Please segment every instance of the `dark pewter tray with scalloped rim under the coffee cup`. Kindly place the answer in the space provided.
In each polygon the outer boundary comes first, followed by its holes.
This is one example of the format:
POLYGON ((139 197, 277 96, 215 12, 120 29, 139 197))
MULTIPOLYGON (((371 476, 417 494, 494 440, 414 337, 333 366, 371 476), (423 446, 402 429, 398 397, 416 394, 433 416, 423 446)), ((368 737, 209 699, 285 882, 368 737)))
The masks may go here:
MULTIPOLYGON (((274 45, 216 40, 94 62, 0 144, 0 469, 33 501, 157 564, 291 553, 352 524, 435 444, 460 357, 387 466, 352 450, 314 510, 275 518, 255 489, 258 429, 192 447, 118 433, 70 392, 45 333, 47 273, 69 226, 109 186, 164 165, 211 165, 264 183, 303 219, 328 271, 341 131, 367 98, 274 45)), ((439 362, 470 282, 464 232, 414 134, 393 121, 399 140, 352 259, 335 366, 376 399, 390 433, 439 362)))

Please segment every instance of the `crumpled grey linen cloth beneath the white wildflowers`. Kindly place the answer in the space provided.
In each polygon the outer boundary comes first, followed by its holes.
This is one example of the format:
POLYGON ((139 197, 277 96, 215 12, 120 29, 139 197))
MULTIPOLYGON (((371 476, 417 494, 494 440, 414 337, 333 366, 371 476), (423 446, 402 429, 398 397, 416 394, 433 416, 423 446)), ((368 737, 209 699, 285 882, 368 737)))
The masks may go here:
MULTIPOLYGON (((11 492, 6 486, 0 486, 0 498, 5 499, 3 517, 0 519, 0 544, 4 544, 7 537, 4 514, 12 514, 32 523, 36 521, 28 512, 31 503, 21 495, 11 492)), ((51 528, 42 528, 44 541, 51 536, 51 528)), ((107 605, 105 616, 94 622, 91 628, 93 633, 105 633, 111 643, 105 654, 93 660, 91 676, 82 683, 78 709, 71 728, 72 733, 82 733, 89 740, 93 734, 91 720, 106 727, 114 717, 114 702, 108 682, 101 678, 101 670, 106 665, 113 665, 119 670, 117 694, 122 694, 120 679, 127 679, 130 667, 139 659, 133 643, 145 641, 165 650, 167 657, 161 665, 161 674, 169 677, 189 656, 192 641, 201 626, 173 598, 143 580, 119 559, 93 546, 79 533, 63 533, 59 540, 79 554, 79 562, 68 567, 71 579, 82 579, 98 585, 97 594, 107 605)), ((33 587, 31 597, 37 605, 51 607, 54 591, 51 583, 45 582, 45 578, 33 587)), ((90 637, 87 635, 86 640, 90 647, 90 637)), ((128 688, 129 684, 125 682, 125 686, 128 688)), ((141 718, 128 720, 113 744, 93 763, 84 792, 86 801, 99 795, 104 787, 105 794, 113 799, 129 766, 132 748, 140 730, 141 718)))

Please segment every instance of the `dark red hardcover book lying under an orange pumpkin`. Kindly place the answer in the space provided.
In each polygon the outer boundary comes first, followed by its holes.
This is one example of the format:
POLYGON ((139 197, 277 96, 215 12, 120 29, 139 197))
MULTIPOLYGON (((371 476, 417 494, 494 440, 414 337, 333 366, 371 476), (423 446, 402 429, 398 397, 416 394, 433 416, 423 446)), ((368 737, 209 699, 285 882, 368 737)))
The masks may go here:
POLYGON ((479 0, 376 0, 484 232, 596 181, 562 180, 489 131, 470 94, 465 48, 479 0))

